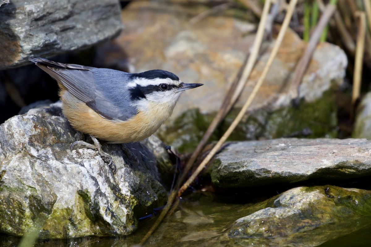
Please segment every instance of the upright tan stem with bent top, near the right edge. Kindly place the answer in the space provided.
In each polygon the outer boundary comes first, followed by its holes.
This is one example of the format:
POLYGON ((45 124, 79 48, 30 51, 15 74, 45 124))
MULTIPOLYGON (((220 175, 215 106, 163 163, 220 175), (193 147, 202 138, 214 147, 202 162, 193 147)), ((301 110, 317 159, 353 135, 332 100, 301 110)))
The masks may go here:
MULTIPOLYGON (((358 22, 358 34, 357 34, 357 47, 355 49, 352 106, 354 106, 355 101, 358 99, 359 93, 361 90, 362 64, 363 64, 363 54, 364 54, 364 48, 365 48, 365 33, 366 33, 365 12, 357 12, 356 14, 359 18, 359 22, 358 22)), ((353 114, 351 114, 351 116, 353 116, 353 114)))

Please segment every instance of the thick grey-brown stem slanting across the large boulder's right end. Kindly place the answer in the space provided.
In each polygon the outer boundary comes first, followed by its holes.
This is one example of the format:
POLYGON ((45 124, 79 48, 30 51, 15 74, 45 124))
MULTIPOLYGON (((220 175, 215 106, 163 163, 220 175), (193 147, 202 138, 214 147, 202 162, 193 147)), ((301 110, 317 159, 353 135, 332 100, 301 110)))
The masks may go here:
POLYGON ((325 29, 328 21, 330 20, 332 14, 336 10, 336 5, 327 4, 326 9, 322 13, 321 19, 318 21, 316 28, 314 29, 311 38, 309 39, 308 45, 305 49, 305 52, 300 59, 299 63, 295 67, 293 74, 293 80, 291 84, 292 96, 293 99, 299 97, 300 82, 304 76, 304 73, 308 67, 309 61, 312 58, 313 52, 316 49, 319 38, 321 37, 322 31, 325 29))

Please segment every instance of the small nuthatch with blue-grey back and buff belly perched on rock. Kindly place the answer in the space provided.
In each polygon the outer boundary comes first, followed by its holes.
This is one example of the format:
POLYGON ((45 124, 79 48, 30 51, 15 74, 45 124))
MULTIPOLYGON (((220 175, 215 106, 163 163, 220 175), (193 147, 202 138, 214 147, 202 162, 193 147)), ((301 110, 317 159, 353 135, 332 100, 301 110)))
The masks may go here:
POLYGON ((128 73, 31 57, 58 82, 62 112, 75 130, 91 136, 93 143, 75 141, 98 150, 113 173, 112 157, 99 140, 131 143, 151 136, 167 120, 181 94, 203 84, 184 83, 165 70, 128 73))

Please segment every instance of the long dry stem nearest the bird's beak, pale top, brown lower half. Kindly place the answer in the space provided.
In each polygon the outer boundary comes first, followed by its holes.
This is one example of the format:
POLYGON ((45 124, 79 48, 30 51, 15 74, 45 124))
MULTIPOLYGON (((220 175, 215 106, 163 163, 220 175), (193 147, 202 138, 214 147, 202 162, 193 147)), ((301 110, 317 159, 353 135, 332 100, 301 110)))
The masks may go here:
POLYGON ((202 137, 200 143, 198 143, 196 150, 193 152, 187 164, 185 165, 183 173, 178 179, 177 187, 180 187, 181 183, 183 183, 185 176, 187 176, 188 171, 191 169, 194 161, 196 161, 198 154, 201 152, 207 140, 210 138, 211 134, 214 132, 216 127, 219 125, 223 117, 227 114, 227 112, 231 109, 233 104, 236 102, 244 85, 246 84, 247 78, 249 77, 252 71, 252 68, 256 62, 257 56, 259 54, 260 46, 262 44, 262 40, 264 36, 264 29, 266 27, 265 23, 266 23, 268 11, 269 11, 269 6, 270 6, 270 0, 265 1, 262 18, 260 19, 260 22, 259 22, 259 27, 256 32, 254 44, 252 46, 249 58, 247 60, 247 63, 244 66, 244 69, 242 71, 242 74, 240 76, 238 83, 233 83, 230 89, 228 90, 228 93, 226 97, 224 98, 221 109, 218 111, 217 115, 214 117, 209 128, 206 130, 204 136, 202 137))

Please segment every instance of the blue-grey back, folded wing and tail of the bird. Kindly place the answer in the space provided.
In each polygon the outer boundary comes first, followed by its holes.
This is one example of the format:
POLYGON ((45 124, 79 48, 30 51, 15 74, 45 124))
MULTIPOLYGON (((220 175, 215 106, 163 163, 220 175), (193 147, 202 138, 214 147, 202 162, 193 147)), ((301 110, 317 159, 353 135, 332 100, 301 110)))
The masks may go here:
POLYGON ((129 91, 125 89, 129 73, 42 58, 30 60, 102 117, 126 121, 137 114, 137 108, 130 104, 129 91))

